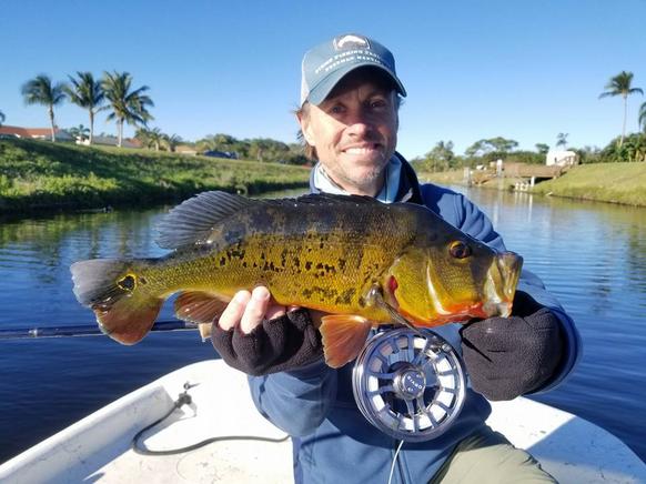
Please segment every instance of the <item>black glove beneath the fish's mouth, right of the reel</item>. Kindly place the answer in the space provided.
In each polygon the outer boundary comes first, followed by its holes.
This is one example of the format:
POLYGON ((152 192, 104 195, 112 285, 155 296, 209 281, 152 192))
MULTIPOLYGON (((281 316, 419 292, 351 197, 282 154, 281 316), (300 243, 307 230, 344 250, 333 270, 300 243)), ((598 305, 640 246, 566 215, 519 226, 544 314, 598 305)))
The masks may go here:
POLYGON ((522 291, 509 317, 475 321, 461 334, 472 387, 492 401, 538 390, 554 375, 564 351, 558 317, 522 291))

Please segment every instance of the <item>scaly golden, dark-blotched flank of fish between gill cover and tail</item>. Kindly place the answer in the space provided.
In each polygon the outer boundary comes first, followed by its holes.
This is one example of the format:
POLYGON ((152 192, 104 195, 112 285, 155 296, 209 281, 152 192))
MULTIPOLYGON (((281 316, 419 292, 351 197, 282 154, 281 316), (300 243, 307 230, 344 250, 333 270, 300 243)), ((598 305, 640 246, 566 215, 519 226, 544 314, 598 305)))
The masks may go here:
POLYGON ((209 244, 178 251, 150 268, 158 274, 142 275, 165 280, 165 294, 189 285, 232 296, 263 284, 280 304, 350 313, 364 305, 370 288, 410 239, 410 231, 393 230, 402 226, 402 214, 388 205, 354 209, 254 206, 214 229, 209 244))

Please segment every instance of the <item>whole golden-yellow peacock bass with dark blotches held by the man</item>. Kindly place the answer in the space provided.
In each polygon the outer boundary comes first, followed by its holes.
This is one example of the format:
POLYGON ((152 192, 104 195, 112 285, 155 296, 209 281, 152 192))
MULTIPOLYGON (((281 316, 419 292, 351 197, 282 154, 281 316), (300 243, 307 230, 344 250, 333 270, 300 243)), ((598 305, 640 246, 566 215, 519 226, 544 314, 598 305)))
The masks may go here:
POLYGON ((204 192, 159 232, 165 256, 72 264, 74 294, 103 332, 139 342, 173 293, 179 319, 211 327, 238 291, 265 285, 279 304, 329 313, 320 331, 333 367, 356 357, 378 324, 508 316, 522 266, 425 206, 356 195, 204 192))

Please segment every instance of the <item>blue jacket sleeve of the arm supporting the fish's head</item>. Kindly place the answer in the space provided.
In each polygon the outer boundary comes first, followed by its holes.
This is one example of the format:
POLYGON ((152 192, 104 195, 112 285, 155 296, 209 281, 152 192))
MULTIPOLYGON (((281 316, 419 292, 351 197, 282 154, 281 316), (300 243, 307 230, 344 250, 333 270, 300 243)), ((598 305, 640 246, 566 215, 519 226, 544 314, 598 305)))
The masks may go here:
MULTIPOLYGON (((506 251, 503 238, 494 230, 491 220, 466 196, 452 192, 436 201, 440 215, 468 235, 487 245, 506 251)), ((548 307, 561 321, 564 336, 564 354, 554 376, 534 393, 552 390, 572 372, 582 356, 582 341, 572 317, 567 315, 558 300, 545 289, 543 281, 534 273, 523 270, 518 290, 529 294, 536 302, 548 307)))

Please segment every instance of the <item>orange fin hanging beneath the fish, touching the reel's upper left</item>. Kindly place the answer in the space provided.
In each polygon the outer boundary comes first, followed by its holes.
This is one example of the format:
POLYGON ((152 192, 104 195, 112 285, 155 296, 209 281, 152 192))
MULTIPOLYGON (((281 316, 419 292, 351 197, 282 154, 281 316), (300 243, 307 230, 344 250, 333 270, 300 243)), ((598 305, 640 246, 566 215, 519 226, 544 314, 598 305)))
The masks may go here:
POLYGON ((321 319, 325 363, 333 369, 354 360, 367 339, 371 321, 353 314, 329 314, 321 319))

